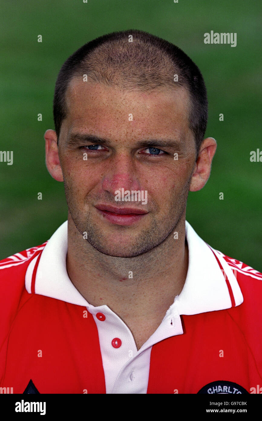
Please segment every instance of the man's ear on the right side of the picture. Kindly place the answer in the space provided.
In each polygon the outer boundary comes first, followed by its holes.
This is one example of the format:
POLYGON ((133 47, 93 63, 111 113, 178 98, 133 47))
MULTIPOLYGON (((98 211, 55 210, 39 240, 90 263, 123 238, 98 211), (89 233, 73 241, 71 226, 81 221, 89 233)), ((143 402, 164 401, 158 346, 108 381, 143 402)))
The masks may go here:
POLYGON ((199 149, 198 159, 191 178, 191 192, 201 190, 210 176, 211 164, 217 149, 217 142, 214 138, 208 137, 203 140, 199 149))

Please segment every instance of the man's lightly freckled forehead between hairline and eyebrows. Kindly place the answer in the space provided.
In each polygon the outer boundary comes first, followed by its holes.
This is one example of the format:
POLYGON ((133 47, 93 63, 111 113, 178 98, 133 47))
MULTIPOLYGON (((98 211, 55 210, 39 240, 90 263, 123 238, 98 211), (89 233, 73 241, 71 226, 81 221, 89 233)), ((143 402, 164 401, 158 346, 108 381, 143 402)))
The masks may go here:
POLYGON ((67 115, 62 126, 67 133, 77 131, 116 136, 174 135, 189 132, 188 92, 169 88, 165 92, 124 90, 74 77, 66 91, 67 115))

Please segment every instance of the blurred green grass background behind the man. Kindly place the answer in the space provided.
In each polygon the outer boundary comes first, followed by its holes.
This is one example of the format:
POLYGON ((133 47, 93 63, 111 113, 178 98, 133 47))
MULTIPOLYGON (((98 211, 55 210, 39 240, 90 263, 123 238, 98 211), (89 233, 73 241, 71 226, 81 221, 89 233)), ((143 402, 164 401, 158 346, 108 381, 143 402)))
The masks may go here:
POLYGON ((54 128, 53 91, 61 65, 100 35, 141 29, 182 48, 206 82, 206 137, 214 137, 218 148, 208 183, 189 193, 187 220, 212 247, 262 271, 262 163, 249 159, 252 150, 262 150, 259 2, 9 0, 0 8, 0 150, 13 151, 13 165, 0 163, 0 258, 48 240, 67 218, 63 183, 45 167, 43 138, 54 128), (237 46, 204 44, 211 30, 236 32, 237 46))

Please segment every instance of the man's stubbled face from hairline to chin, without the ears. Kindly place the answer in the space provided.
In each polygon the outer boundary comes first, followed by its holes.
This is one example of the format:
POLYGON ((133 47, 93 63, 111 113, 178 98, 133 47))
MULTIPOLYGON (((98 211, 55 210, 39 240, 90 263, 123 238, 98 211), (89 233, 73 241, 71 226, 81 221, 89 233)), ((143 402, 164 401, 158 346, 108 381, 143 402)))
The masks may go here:
POLYGON ((133 257, 173 235, 185 214, 196 160, 187 105, 180 88, 141 93, 71 81, 59 160, 71 218, 96 250, 133 257), (147 203, 116 201, 122 189, 147 194, 147 203))

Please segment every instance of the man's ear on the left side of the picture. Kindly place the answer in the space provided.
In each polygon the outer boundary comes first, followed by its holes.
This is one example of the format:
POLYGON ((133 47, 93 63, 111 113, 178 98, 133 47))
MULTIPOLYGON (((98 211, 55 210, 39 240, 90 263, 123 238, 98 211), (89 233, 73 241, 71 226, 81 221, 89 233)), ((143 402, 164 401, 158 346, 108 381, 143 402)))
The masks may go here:
POLYGON ((48 129, 45 138, 45 165, 50 175, 56 181, 64 181, 63 173, 58 157, 57 136, 54 130, 48 129))

